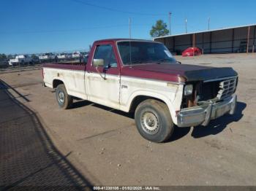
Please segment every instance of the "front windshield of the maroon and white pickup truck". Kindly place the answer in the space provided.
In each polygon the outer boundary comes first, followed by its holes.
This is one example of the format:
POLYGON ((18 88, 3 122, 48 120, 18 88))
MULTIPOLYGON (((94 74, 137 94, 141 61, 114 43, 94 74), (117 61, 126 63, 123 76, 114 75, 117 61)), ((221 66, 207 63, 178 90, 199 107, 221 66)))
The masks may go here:
POLYGON ((140 63, 176 63, 167 48, 157 42, 118 42, 118 51, 124 65, 140 63))

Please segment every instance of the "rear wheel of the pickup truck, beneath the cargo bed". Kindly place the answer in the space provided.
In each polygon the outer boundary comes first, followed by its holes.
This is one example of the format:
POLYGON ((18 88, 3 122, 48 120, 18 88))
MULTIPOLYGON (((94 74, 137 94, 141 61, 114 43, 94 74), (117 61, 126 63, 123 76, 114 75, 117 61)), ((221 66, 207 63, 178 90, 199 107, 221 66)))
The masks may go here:
POLYGON ((56 88, 56 100, 59 107, 62 109, 69 109, 72 107, 73 98, 67 94, 67 90, 64 84, 58 85, 56 88))

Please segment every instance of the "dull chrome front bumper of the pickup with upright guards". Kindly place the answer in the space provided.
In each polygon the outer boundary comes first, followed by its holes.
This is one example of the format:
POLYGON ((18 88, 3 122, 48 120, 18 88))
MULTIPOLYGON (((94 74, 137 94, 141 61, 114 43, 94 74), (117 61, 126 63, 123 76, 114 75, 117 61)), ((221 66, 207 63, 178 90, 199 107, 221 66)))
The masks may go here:
POLYGON ((177 125, 178 127, 206 126, 210 120, 221 117, 227 112, 234 114, 235 110, 236 95, 232 95, 217 103, 209 101, 200 106, 181 109, 177 114, 177 125))

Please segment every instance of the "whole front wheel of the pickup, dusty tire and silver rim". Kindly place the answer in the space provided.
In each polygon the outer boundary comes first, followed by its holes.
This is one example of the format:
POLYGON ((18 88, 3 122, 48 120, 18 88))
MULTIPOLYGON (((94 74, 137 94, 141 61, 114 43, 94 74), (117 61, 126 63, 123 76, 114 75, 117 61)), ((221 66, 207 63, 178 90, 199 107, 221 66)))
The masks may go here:
POLYGON ((135 123, 143 138, 157 143, 167 141, 174 130, 166 104, 154 99, 148 99, 138 105, 135 110, 135 123))

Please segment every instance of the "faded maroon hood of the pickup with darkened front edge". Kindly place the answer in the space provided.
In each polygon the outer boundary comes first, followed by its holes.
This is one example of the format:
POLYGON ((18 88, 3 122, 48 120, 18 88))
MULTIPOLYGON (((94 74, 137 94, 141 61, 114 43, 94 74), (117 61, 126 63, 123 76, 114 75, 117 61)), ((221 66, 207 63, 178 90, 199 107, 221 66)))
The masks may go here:
POLYGON ((177 63, 152 63, 130 66, 130 69, 151 71, 162 74, 178 75, 184 77, 187 82, 205 81, 223 77, 233 77, 238 74, 230 67, 214 68, 208 66, 196 66, 177 63))

